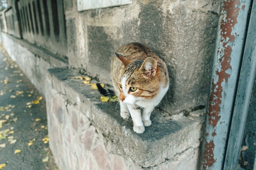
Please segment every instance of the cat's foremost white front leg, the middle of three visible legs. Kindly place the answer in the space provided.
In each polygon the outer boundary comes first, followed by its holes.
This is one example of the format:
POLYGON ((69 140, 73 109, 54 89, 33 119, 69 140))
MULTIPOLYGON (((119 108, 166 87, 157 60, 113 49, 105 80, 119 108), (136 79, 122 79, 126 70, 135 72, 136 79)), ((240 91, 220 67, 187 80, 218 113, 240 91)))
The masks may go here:
POLYGON ((141 111, 140 107, 136 105, 127 105, 130 115, 132 117, 133 122, 133 130, 136 133, 143 133, 145 131, 145 127, 143 125, 142 119, 141 119, 141 111))

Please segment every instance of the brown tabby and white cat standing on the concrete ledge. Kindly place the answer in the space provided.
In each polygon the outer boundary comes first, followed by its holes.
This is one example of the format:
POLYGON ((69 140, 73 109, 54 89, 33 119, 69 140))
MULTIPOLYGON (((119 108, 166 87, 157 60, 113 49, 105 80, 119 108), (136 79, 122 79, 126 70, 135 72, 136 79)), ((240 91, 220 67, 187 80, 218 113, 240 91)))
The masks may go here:
POLYGON ((121 117, 132 117, 133 130, 143 133, 152 124, 153 109, 168 91, 165 62, 145 45, 132 42, 122 45, 115 53, 111 74, 120 100, 121 117))

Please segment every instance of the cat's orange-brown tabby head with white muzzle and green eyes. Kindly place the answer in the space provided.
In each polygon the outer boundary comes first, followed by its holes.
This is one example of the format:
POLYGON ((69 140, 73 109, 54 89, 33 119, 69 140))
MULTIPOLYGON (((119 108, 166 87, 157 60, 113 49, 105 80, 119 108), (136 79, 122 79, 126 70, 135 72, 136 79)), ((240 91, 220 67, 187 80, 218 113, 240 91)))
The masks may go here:
POLYGON ((118 78, 119 99, 125 104, 135 104, 141 100, 154 98, 160 91, 157 61, 152 57, 143 60, 132 60, 117 54, 124 64, 118 78))

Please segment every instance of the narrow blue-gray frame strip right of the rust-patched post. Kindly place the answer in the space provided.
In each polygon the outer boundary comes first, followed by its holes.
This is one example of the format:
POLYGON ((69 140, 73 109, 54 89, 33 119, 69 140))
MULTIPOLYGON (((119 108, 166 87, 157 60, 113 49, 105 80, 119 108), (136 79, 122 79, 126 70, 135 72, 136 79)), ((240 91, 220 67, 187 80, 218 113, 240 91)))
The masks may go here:
MULTIPOLYGON (((243 141, 246 119, 256 72, 256 1, 252 4, 243 62, 241 66, 236 102, 231 121, 225 159, 225 170, 238 169, 238 159, 243 141)), ((254 115, 255 116, 255 115, 254 115)), ((256 141, 255 141, 256 142, 256 141)), ((249 147, 249 149, 251 149, 249 147)), ((256 165, 254 165, 256 166, 256 165)))

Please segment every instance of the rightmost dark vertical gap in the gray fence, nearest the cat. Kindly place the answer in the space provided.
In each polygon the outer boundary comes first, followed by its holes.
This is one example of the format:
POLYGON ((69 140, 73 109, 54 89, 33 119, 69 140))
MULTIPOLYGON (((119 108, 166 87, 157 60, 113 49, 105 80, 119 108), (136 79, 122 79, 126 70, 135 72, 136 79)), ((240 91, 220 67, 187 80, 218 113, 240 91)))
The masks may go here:
POLYGON ((59 40, 58 6, 56 0, 51 0, 53 29, 56 40, 59 40))

